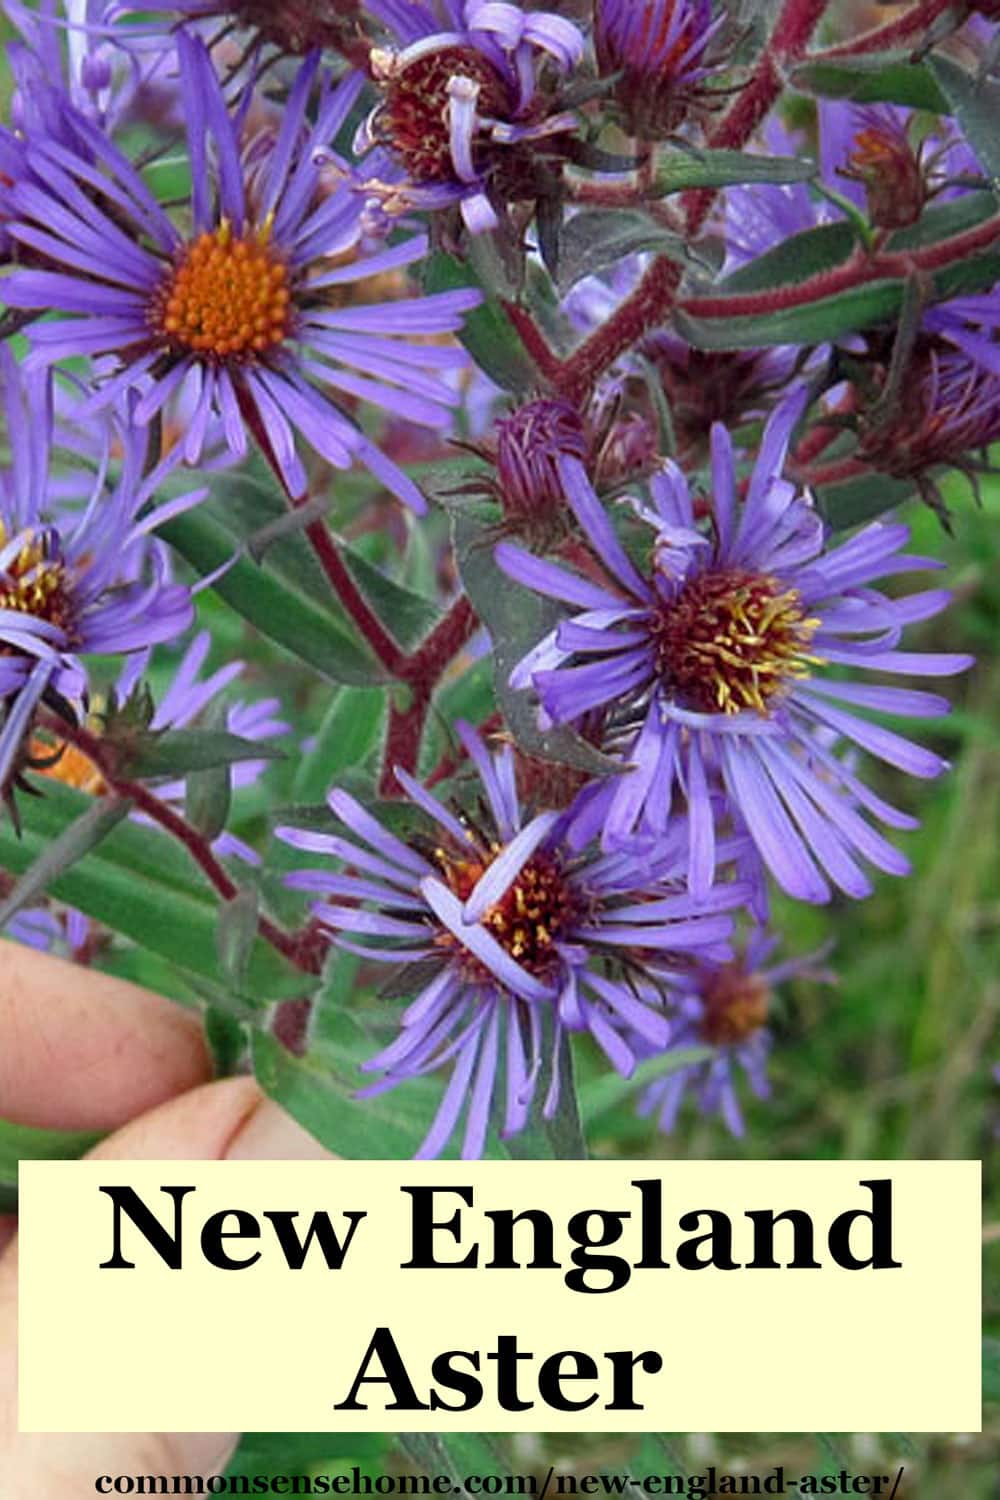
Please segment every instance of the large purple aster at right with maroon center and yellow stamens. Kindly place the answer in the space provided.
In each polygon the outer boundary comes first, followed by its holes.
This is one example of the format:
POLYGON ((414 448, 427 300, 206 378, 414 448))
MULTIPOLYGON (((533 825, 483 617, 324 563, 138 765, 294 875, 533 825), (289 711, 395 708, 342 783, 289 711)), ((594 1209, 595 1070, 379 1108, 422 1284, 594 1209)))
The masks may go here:
POLYGON ((831 730, 918 777, 945 762, 865 711, 919 718, 948 712, 936 694, 844 681, 825 666, 946 676, 966 656, 898 650, 904 626, 948 603, 931 590, 891 598, 879 578, 939 566, 903 549, 909 530, 867 526, 829 546, 820 516, 783 478, 805 393, 771 417, 738 501, 729 434, 712 429, 711 495, 696 508, 673 462, 651 482, 651 504, 633 502, 652 530, 646 564, 633 561, 586 474, 561 459, 567 500, 604 568, 604 580, 532 556, 496 550, 514 580, 571 604, 576 614, 516 668, 549 722, 576 723, 603 710, 625 738, 625 776, 600 783, 574 837, 603 828, 612 849, 666 830, 678 792, 687 800, 690 886, 708 891, 715 866, 721 782, 738 825, 792 896, 829 900, 829 880, 870 892, 858 860, 903 874, 903 855, 864 813, 895 826, 910 820, 868 790, 817 730, 831 730), (858 712, 861 710, 862 712, 858 712))

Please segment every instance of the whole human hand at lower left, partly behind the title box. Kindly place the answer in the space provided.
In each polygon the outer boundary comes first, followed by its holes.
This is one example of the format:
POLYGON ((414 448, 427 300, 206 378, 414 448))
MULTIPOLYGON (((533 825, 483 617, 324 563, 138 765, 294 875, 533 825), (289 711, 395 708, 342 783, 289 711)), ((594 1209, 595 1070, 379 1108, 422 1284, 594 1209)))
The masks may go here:
MULTIPOLYGON (((304 1160, 322 1148, 252 1078, 207 1082, 193 1016, 157 994, 0 942, 0 1119, 109 1131, 111 1160, 304 1160)), ((16 1224, 0 1216, 0 1496, 72 1500, 99 1474, 214 1474, 232 1432, 18 1432, 16 1224)))

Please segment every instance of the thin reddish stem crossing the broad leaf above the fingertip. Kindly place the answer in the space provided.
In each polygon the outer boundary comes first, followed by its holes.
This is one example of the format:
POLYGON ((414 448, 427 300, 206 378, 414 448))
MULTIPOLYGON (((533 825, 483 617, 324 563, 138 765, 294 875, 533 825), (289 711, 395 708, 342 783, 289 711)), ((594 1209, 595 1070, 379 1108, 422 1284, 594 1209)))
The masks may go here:
MULTIPOLYGON (((141 813, 163 828, 165 832, 177 838, 178 843, 184 846, 190 858, 195 861, 198 868, 205 874, 214 891, 225 900, 231 902, 240 892, 240 886, 232 880, 225 866, 216 858, 208 840, 198 832, 196 828, 181 818, 180 813, 174 812, 166 802, 162 802, 147 786, 141 782, 133 782, 126 776, 121 776, 117 770, 114 747, 106 746, 97 735, 93 735, 88 729, 79 724, 70 724, 63 718, 55 718, 54 716, 43 716, 40 723, 66 744, 72 744, 76 750, 81 750, 87 759, 100 771, 109 790, 117 796, 124 798, 132 802, 141 813)), ((327 940, 318 940, 316 930, 307 927, 303 933, 286 933, 283 928, 277 927, 270 918, 261 916, 258 920, 258 932, 261 938, 276 948, 289 963, 306 974, 319 974, 322 970, 322 957, 325 954, 327 940)))

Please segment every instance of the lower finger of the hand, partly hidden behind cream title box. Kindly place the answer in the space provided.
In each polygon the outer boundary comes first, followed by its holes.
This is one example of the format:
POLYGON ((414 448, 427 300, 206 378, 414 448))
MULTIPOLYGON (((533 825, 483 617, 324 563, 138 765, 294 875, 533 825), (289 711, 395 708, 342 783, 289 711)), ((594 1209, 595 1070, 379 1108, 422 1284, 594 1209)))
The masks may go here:
MULTIPOLYGON (((96 1148, 114 1161, 325 1156, 250 1078, 193 1089, 130 1120, 96 1148)), ((93 1494, 100 1474, 216 1474, 234 1432, 18 1432, 16 1239, 0 1257, 0 1494, 57 1500, 93 1494)))

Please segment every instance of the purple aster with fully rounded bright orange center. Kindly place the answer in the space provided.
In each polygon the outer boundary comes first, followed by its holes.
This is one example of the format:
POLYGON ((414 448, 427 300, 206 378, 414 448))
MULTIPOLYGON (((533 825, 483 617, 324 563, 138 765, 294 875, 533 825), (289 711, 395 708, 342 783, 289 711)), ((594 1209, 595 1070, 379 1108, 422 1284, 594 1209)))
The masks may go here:
POLYGON ((357 284, 427 250, 417 236, 367 254, 364 204, 354 188, 345 182, 321 192, 324 152, 360 78, 337 88, 324 78, 309 126, 319 66, 313 54, 297 74, 276 140, 258 140, 244 153, 243 111, 226 108, 204 44, 181 30, 177 46, 193 232, 181 234, 138 170, 81 117, 75 126, 93 164, 51 140, 28 142, 28 162, 45 186, 15 183, 9 200, 18 218, 7 230, 49 268, 15 272, 4 296, 16 308, 70 315, 31 327, 28 363, 114 352, 121 370, 94 393, 93 410, 142 388, 135 422, 147 424, 190 382, 198 399, 183 444, 187 462, 198 462, 213 417, 237 456, 246 452, 249 426, 297 495, 306 488, 298 432, 327 462, 346 468, 357 458, 423 510, 412 480, 340 412, 330 392, 417 423, 447 424, 456 393, 442 375, 465 364, 465 354, 409 340, 456 332, 478 294, 373 306, 357 300, 357 284))

